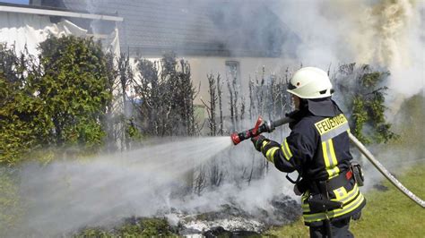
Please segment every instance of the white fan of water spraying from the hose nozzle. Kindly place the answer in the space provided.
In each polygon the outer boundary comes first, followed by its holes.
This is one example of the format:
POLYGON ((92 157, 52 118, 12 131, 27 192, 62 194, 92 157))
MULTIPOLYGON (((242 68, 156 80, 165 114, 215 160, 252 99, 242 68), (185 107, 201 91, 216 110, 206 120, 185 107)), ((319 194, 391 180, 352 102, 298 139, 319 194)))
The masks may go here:
POLYGON ((57 235, 153 216, 172 206, 170 193, 185 187, 186 174, 230 144, 229 137, 178 139, 87 160, 28 164, 20 185, 25 215, 17 232, 57 235))

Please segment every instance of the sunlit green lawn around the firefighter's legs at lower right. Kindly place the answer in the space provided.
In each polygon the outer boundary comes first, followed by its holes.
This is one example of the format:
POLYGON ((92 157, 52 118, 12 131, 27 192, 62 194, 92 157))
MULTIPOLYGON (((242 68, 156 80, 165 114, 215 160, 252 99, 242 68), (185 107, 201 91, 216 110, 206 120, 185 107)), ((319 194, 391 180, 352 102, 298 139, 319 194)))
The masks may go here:
MULTIPOLYGON (((425 165, 412 166, 398 176, 409 190, 425 199, 425 165)), ((366 178, 368 179, 368 178, 366 178)), ((404 196, 388 181, 382 183, 387 191, 370 190, 364 195, 367 205, 359 221, 351 221, 356 237, 425 237, 425 209, 404 196)), ((302 219, 283 227, 275 227, 266 235, 278 237, 308 237, 302 219)))

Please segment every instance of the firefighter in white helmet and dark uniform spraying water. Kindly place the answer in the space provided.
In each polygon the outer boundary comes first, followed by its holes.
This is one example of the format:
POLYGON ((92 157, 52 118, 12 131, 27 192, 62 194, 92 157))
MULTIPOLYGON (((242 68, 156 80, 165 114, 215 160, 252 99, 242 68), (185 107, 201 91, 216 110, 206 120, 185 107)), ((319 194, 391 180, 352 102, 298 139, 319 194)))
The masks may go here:
POLYGON ((366 200, 351 169, 347 118, 332 100, 326 72, 304 67, 295 72, 287 91, 296 110, 291 133, 282 144, 259 135, 256 150, 284 173, 297 171, 294 191, 301 196, 311 237, 352 237, 350 220, 360 217, 366 200))

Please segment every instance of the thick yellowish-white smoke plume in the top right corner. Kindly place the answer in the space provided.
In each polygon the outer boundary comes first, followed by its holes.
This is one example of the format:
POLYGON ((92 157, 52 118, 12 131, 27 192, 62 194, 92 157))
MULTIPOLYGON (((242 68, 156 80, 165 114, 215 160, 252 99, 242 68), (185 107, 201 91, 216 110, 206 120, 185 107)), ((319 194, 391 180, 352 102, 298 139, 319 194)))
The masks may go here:
POLYGON ((424 89, 423 2, 380 1, 358 13, 350 45, 356 61, 387 68, 391 93, 408 98, 424 89))

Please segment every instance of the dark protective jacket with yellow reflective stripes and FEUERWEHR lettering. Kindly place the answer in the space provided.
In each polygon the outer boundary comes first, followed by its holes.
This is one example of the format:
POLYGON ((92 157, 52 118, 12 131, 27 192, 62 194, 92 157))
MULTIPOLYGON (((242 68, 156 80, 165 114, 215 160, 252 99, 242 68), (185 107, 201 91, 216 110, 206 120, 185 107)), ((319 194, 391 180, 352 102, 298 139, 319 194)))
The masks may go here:
POLYGON ((346 117, 330 98, 308 100, 308 106, 292 116, 290 135, 279 144, 262 142, 261 151, 282 172, 298 171, 306 225, 319 225, 351 217, 366 204, 351 174, 350 130, 346 117), (323 210, 312 200, 337 201, 338 208, 323 210))

